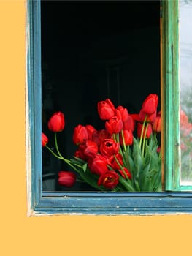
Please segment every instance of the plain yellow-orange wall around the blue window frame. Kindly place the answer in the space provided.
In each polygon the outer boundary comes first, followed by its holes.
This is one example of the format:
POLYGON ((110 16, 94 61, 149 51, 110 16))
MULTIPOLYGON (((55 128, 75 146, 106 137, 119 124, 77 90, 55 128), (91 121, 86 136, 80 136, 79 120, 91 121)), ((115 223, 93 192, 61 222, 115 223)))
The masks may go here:
POLYGON ((25 12, 0 0, 0 255, 192 255, 190 215, 27 217, 25 12))

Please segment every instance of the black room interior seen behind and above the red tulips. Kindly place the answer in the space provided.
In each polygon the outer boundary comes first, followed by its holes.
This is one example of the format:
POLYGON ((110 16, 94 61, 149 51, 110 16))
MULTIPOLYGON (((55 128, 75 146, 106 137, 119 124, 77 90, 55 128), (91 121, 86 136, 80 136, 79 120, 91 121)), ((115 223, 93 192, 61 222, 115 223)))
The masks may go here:
MULTIPOLYGON (((160 102, 159 1, 42 1, 42 130, 53 141, 47 121, 65 115, 59 148, 72 157, 77 124, 104 128, 96 105, 110 98, 129 113, 156 93, 160 102)), ((57 174, 69 170, 43 148, 45 190, 58 186, 57 174)), ((91 190, 77 184, 71 190, 91 190)))

